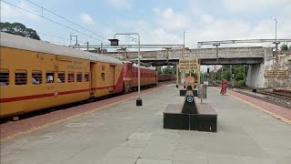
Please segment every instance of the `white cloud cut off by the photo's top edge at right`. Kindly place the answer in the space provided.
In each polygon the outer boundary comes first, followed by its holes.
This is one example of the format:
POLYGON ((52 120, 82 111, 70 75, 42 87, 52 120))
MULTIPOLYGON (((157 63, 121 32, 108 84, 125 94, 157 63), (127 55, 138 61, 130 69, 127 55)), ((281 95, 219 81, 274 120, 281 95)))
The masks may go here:
POLYGON ((279 5, 291 5, 290 0, 223 0, 226 9, 234 12, 256 12, 279 5))

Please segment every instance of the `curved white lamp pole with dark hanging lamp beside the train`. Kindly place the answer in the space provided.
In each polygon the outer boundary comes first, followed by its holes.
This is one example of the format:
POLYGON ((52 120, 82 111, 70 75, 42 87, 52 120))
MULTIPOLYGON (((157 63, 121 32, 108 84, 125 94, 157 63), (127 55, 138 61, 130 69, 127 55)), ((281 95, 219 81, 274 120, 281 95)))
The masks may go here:
MULTIPOLYGON (((135 35, 137 36, 137 41, 138 41, 138 97, 136 99, 136 106, 143 106, 143 100, 140 97, 140 36, 138 33, 119 33, 119 34, 115 34, 116 36, 130 36, 130 35, 135 35)), ((114 39, 109 39, 109 41, 111 42, 111 46, 118 46, 118 39, 116 39, 114 37, 114 39)))

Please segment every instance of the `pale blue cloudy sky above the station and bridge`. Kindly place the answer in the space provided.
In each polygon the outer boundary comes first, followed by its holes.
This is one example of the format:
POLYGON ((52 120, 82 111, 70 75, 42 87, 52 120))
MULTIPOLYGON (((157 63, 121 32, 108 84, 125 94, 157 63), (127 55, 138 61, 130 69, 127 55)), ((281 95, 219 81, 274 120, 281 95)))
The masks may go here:
MULTIPOLYGON (((101 42, 108 44, 107 39, 113 38, 116 33, 128 32, 138 33, 141 44, 183 45, 185 32, 185 44, 189 48, 196 48, 198 41, 275 38, 275 17, 277 38, 291 38, 291 0, 29 1, 1 0, 1 22, 20 22, 35 29, 42 40, 60 45, 70 45, 72 33, 81 45, 87 41, 94 45, 101 42)), ((75 44, 75 37, 73 39, 71 44, 75 44)), ((118 36, 118 39, 120 44, 135 44, 124 36, 118 36)), ((247 46, 261 45, 273 46, 247 46)))

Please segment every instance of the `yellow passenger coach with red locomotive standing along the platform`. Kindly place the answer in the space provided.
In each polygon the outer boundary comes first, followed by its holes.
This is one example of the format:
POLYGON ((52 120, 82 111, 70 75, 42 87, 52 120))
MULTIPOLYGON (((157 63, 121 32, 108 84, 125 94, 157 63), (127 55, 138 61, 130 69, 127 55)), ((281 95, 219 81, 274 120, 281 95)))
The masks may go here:
MULTIPOLYGON (((137 87, 128 61, 1 32, 0 118, 137 87)), ((141 67, 141 87, 156 87, 156 67, 141 67)))

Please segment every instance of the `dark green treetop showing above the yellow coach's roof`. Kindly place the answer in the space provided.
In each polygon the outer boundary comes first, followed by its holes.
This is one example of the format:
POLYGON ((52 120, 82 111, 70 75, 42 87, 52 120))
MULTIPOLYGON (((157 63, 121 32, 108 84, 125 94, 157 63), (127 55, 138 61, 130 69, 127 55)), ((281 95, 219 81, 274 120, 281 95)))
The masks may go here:
POLYGON ((27 28, 25 25, 21 23, 8 23, 1 22, 0 30, 5 33, 17 35, 17 36, 25 36, 30 37, 36 40, 40 40, 40 37, 37 35, 36 31, 32 28, 27 28))

